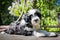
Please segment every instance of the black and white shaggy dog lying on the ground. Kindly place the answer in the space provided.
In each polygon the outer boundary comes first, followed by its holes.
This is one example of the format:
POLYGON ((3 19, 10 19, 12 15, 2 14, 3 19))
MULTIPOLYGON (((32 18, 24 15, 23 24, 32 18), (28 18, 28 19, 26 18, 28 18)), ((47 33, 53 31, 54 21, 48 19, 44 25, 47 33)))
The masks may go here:
POLYGON ((12 23, 10 27, 5 30, 8 34, 19 35, 34 35, 40 36, 56 36, 55 33, 49 33, 47 31, 40 30, 41 13, 37 9, 31 9, 23 15, 21 21, 12 23))

